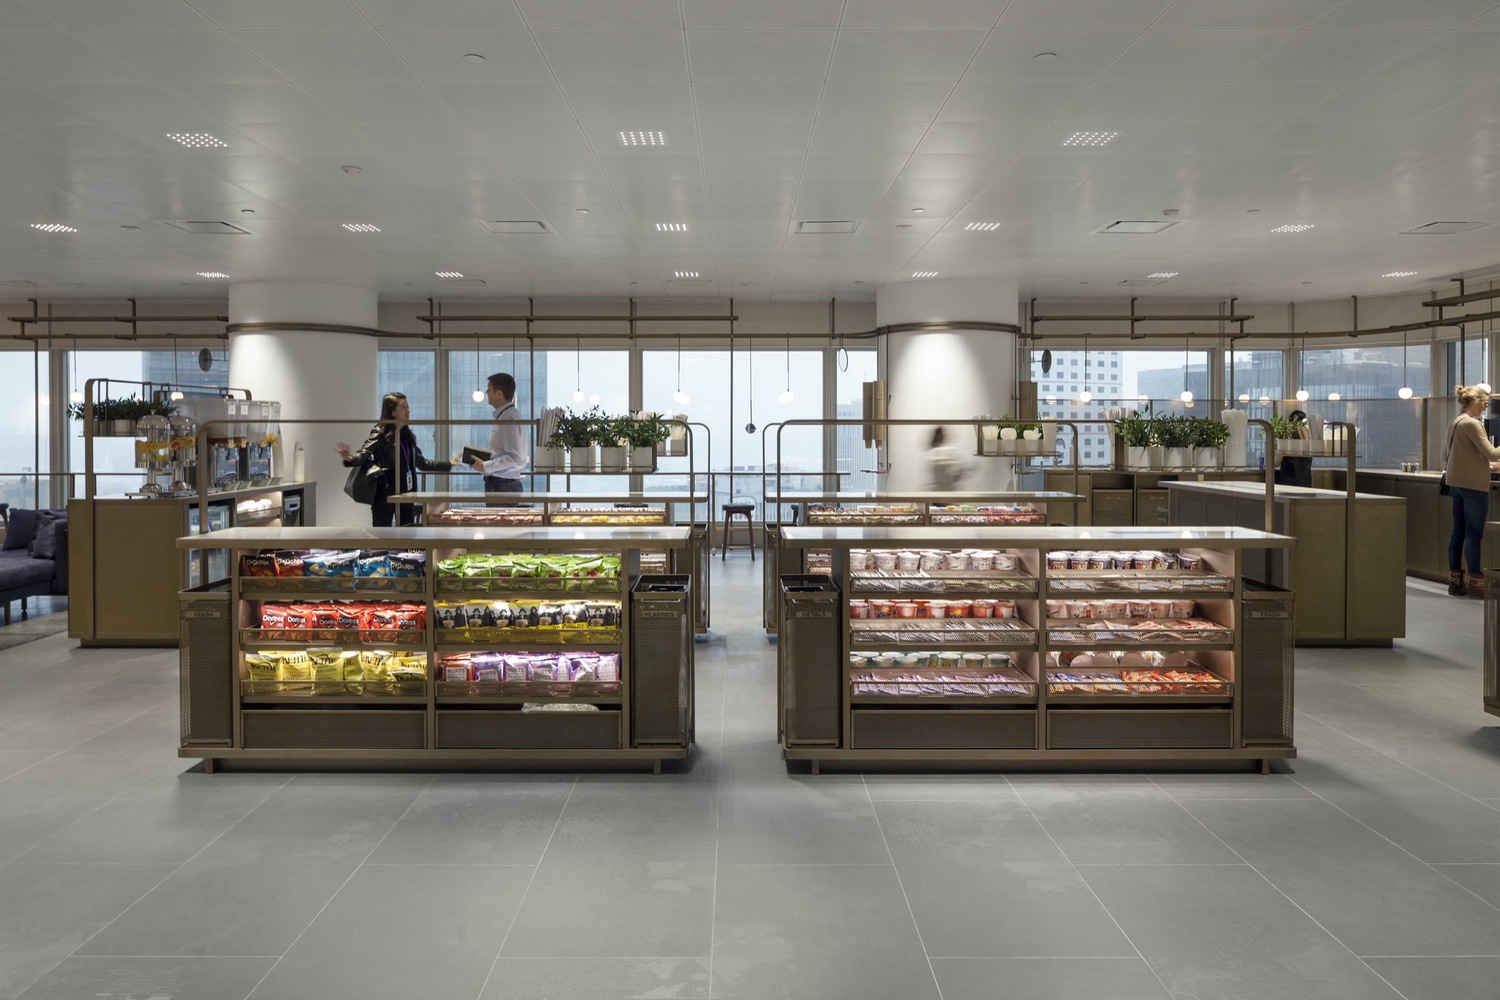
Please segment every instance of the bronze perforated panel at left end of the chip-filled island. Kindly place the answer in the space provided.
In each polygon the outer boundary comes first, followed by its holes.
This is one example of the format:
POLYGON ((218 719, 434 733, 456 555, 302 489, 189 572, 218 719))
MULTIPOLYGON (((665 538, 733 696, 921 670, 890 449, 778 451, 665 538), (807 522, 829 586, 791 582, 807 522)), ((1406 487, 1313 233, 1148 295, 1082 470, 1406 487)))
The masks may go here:
POLYGON ((234 745, 234 643, 228 592, 183 597, 177 625, 182 745, 234 745))

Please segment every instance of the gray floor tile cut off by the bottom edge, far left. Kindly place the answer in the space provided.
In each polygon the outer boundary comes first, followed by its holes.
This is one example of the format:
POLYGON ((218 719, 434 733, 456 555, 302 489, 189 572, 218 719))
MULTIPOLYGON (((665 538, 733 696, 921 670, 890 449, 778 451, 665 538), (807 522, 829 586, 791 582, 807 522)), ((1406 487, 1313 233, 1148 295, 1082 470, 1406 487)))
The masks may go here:
POLYGON ((274 958, 68 958, 21 1000, 244 1000, 274 958))

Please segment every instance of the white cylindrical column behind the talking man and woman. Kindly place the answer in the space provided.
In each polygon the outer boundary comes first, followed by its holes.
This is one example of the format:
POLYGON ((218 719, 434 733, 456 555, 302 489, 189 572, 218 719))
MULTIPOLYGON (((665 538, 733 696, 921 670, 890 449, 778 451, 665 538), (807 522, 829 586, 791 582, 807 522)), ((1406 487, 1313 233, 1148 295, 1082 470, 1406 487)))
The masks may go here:
MULTIPOLYGON (((255 399, 274 399, 282 420, 348 420, 346 426, 282 426, 286 462, 302 442, 308 481, 318 484, 318 523, 366 526, 369 507, 344 495, 348 469, 334 444, 358 448, 380 417, 375 394, 375 337, 298 328, 339 325, 374 330, 380 303, 374 288, 318 282, 238 282, 230 285, 230 322, 274 322, 284 328, 230 334, 230 384, 255 399)), ((290 468, 278 471, 286 478, 290 468)))

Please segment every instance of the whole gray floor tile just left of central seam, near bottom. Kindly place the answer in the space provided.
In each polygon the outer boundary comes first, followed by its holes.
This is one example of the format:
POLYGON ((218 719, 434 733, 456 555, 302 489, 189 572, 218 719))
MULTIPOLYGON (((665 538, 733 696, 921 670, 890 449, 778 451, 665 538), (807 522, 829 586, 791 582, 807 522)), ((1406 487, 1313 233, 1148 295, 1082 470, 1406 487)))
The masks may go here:
MULTIPOLYGON (((710 844, 711 847, 711 844, 710 844)), ((638 958, 710 954, 712 858, 644 861, 596 853, 537 868, 506 958, 638 958)))

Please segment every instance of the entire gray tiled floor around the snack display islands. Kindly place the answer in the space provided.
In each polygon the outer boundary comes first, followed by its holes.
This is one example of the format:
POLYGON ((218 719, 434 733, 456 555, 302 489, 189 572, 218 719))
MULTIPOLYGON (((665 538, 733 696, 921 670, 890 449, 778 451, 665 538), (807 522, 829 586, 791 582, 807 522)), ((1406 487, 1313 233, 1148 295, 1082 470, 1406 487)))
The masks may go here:
POLYGON ((174 651, 0 651, 0 999, 1494 1000, 1480 606, 1300 651, 1269 777, 788 775, 759 564, 651 775, 204 775, 174 651))

